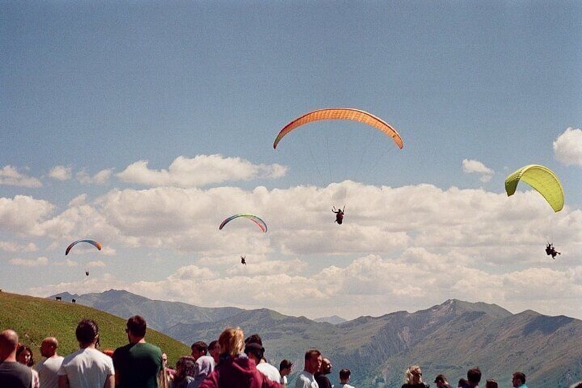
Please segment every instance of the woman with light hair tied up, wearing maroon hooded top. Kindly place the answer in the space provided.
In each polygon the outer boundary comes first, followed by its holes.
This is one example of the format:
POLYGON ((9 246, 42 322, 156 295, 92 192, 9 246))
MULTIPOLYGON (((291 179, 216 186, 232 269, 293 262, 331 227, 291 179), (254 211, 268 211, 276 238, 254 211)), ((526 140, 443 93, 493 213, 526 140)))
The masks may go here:
POLYGON ((243 352, 244 333, 240 328, 226 328, 218 338, 220 365, 200 383, 200 388, 280 388, 257 370, 243 352))

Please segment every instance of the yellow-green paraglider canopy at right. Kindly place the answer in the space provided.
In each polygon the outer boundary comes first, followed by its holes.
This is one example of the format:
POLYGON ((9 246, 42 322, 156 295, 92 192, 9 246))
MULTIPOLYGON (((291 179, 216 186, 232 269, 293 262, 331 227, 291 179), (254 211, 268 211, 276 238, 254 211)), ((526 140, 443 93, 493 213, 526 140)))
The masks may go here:
POLYGON ((517 189, 517 183, 524 181, 533 187, 548 201, 554 212, 563 208, 564 196, 560 180, 547 167, 539 164, 529 164, 509 174, 505 179, 505 191, 507 196, 512 196, 517 189))

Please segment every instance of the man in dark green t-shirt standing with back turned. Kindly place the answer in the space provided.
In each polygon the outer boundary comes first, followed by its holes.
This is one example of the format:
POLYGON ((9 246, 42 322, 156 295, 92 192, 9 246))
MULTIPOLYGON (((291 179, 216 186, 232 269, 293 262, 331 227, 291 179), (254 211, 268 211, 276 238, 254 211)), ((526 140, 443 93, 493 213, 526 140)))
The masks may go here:
POLYGON ((163 370, 162 351, 146 342, 146 319, 130 317, 126 324, 128 344, 113 352, 115 383, 123 388, 157 388, 163 370))

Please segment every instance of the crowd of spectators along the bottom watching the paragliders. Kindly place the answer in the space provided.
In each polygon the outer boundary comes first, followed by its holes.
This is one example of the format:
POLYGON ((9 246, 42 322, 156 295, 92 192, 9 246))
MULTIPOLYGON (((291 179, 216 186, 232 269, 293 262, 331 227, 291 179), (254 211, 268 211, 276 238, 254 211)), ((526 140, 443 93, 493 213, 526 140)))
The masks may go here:
MULTIPOLYGON (((146 341, 146 319, 139 315, 126 323, 128 343, 115 350, 99 350, 99 326, 92 319, 82 319, 75 330, 79 349, 67 356, 58 354, 58 340, 52 336, 43 340, 40 355, 19 342, 11 329, 0 333, 1 388, 354 388, 349 385, 351 371, 339 372, 339 385, 331 385, 331 361, 316 349, 305 352, 303 370, 290 385, 288 376, 293 363, 284 359, 279 368, 265 358, 261 336, 244 339, 240 328, 226 328, 215 341, 207 345, 197 341, 191 354, 181 356, 174 369, 167 365, 167 355, 160 347, 146 341)), ((467 371, 458 381, 458 388, 478 388, 481 371, 467 371)), ((452 388, 446 376, 434 378, 437 388, 452 388)), ((514 372, 514 388, 527 388, 526 375, 514 372)), ((401 388, 428 388, 420 365, 410 365, 404 371, 401 388)), ((494 379, 485 388, 498 388, 494 379)), ((570 388, 582 388, 582 382, 570 388)))

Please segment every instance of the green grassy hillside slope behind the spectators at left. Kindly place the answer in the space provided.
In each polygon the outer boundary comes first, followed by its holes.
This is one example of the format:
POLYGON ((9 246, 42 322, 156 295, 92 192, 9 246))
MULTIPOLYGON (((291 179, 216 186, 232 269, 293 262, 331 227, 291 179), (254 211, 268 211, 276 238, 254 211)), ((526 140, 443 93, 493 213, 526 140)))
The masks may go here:
MULTIPOLYGON (((21 343, 32 348, 35 361, 41 358, 40 343, 47 336, 58 339, 58 353, 62 356, 77 350, 75 328, 84 318, 97 322, 101 350, 128 343, 126 319, 67 301, 0 292, 0 330, 16 330, 21 343)), ((148 317, 145 318, 147 321, 148 317)), ((178 357, 190 354, 187 345, 154 330, 148 329, 146 341, 161 347, 168 356, 169 365, 174 365, 178 357)))

